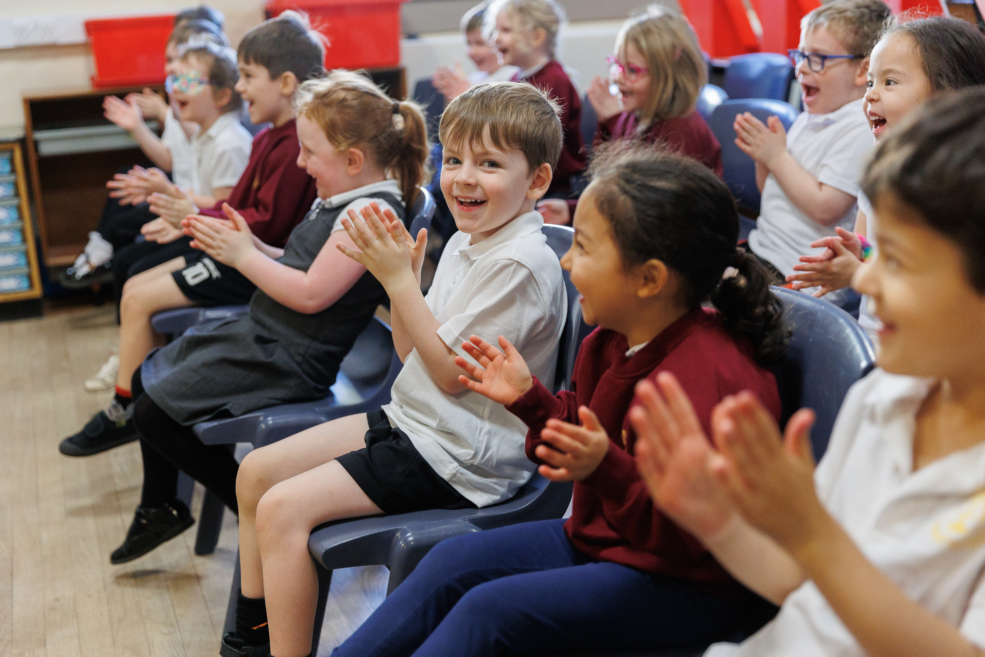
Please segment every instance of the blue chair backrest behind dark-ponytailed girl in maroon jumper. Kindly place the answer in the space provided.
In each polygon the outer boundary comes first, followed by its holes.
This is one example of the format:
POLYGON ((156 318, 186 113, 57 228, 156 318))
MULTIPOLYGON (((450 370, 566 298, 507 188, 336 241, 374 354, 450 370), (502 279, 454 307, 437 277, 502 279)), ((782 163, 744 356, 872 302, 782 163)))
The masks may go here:
POLYGON ((785 361, 774 371, 783 406, 782 424, 797 409, 814 409, 814 456, 820 459, 848 388, 876 366, 865 331, 841 308, 802 292, 772 288, 793 328, 785 361))

